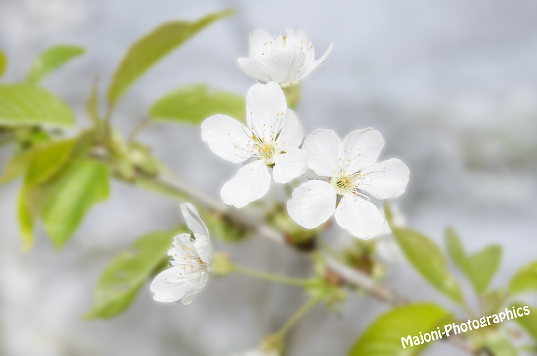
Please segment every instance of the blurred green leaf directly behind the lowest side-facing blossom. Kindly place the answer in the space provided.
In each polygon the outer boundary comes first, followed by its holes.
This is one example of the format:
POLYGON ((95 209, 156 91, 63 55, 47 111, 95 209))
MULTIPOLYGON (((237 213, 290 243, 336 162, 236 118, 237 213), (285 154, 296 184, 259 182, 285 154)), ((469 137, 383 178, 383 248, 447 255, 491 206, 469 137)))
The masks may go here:
POLYGON ((166 252, 176 231, 157 231, 144 235, 122 251, 101 275, 86 319, 111 318, 132 303, 144 282, 160 268, 168 266, 166 252))

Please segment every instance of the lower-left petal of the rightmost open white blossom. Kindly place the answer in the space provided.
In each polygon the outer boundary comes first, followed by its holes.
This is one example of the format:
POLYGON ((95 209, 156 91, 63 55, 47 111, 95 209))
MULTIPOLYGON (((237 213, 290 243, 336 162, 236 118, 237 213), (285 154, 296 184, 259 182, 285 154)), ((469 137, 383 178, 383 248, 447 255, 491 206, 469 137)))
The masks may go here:
POLYGON ((295 188, 287 201, 287 213, 300 226, 313 229, 336 210, 336 189, 322 180, 309 180, 295 188))

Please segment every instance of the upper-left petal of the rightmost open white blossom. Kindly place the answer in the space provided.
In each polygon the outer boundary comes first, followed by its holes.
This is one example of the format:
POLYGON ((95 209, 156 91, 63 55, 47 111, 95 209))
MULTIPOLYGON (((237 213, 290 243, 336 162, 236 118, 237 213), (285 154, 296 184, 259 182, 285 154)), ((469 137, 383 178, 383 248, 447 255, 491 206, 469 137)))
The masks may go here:
POLYGON ((317 129, 304 140, 302 149, 307 152, 308 167, 321 177, 331 177, 343 154, 343 143, 335 132, 317 129))

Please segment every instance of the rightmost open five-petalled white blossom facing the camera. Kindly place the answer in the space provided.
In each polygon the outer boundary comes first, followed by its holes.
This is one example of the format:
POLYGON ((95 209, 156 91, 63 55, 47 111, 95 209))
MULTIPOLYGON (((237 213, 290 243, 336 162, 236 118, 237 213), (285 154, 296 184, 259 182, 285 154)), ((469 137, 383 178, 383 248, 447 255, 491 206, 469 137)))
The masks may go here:
POLYGON ((335 214, 339 226, 352 235, 378 236, 384 219, 370 197, 396 198, 409 179, 409 169, 399 159, 376 162, 383 147, 382 135, 372 128, 351 132, 343 143, 328 129, 306 137, 302 148, 308 167, 327 179, 312 179, 296 187, 287 202, 289 216, 312 229, 335 214))

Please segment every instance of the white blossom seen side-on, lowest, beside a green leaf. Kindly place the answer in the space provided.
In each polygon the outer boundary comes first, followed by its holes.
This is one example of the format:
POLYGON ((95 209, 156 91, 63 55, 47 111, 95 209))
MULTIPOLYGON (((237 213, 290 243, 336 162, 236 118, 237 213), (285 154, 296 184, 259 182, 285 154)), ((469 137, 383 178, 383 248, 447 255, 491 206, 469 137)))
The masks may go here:
POLYGON ((181 300, 185 305, 192 303, 194 296, 207 284, 213 248, 209 231, 201 220, 198 210, 190 203, 181 204, 186 226, 192 233, 173 237, 173 247, 168 251, 172 257, 170 267, 157 274, 151 282, 153 297, 159 302, 181 300))

